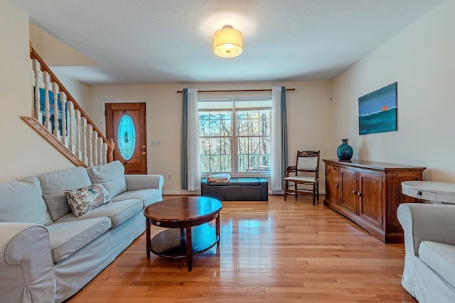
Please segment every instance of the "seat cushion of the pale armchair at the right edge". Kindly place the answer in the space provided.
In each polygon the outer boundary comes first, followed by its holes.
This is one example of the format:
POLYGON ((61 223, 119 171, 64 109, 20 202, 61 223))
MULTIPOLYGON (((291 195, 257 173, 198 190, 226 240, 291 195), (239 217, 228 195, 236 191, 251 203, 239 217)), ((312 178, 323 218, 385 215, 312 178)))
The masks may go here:
POLYGON ((450 285, 455 285, 455 246, 422 241, 419 246, 419 258, 450 285))

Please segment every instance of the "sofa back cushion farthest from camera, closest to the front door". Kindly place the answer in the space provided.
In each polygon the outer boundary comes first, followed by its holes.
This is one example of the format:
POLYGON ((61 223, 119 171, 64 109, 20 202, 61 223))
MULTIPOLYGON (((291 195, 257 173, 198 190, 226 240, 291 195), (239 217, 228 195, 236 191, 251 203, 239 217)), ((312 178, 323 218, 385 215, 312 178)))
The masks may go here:
POLYGON ((92 183, 102 184, 111 198, 127 190, 125 167, 119 160, 105 165, 87 167, 87 173, 92 183))

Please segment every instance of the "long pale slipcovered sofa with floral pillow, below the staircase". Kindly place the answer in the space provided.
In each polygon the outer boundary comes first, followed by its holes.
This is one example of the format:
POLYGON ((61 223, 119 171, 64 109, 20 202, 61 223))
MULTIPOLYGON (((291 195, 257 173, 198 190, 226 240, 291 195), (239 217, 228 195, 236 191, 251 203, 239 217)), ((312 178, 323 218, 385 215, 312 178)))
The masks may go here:
POLYGON ((163 184, 124 175, 119 161, 0 184, 0 302, 71 297, 144 232, 143 210, 162 200, 163 184), (76 217, 63 190, 91 184, 112 202, 76 217))

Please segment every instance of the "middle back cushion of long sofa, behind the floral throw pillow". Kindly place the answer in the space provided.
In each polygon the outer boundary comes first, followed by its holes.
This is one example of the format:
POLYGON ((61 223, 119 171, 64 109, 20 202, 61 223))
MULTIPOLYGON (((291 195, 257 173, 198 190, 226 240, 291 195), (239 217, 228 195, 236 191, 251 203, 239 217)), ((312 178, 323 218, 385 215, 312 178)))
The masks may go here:
POLYGON ((48 172, 41 175, 39 180, 50 216, 54 221, 71 211, 63 193, 65 189, 80 189, 92 184, 84 167, 48 172))

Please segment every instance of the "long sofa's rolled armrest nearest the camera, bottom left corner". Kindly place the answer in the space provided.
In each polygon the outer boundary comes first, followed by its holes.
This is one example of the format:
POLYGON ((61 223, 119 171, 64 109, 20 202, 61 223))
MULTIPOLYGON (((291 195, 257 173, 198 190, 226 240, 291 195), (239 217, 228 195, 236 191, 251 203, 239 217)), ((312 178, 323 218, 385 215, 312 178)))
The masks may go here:
POLYGON ((50 302, 55 273, 48 230, 39 224, 0 222, 1 302, 50 302))

